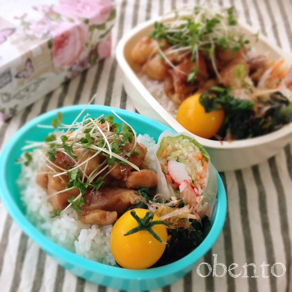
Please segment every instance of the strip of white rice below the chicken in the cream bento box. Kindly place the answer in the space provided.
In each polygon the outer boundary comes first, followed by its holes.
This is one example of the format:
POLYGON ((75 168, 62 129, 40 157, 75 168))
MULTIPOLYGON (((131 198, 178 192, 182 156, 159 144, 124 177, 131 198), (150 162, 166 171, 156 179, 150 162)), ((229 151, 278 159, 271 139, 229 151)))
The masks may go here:
POLYGON ((174 104, 164 93, 163 82, 152 80, 144 73, 137 75, 145 88, 150 94, 158 101, 158 103, 167 110, 174 118, 176 118, 177 110, 179 106, 174 104))

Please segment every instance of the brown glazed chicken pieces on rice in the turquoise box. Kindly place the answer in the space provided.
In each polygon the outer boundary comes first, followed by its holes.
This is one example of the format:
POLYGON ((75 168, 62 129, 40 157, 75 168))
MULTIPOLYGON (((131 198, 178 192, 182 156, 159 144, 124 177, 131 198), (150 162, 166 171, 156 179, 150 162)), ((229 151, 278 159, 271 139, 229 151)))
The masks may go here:
MULTIPOLYGON (((99 123, 99 127, 104 129, 105 132, 113 131, 115 128, 108 123, 99 123)), ((69 132, 69 134, 71 133, 72 131, 69 132)), ((73 139, 68 139, 68 141, 73 141, 73 139)), ((112 141, 115 140, 109 140, 109 143, 112 141)), ((116 140, 116 142, 119 141, 116 140)), ((96 144, 99 141, 92 141, 92 143, 96 144)), ((147 148, 136 143, 133 151, 134 143, 135 138, 133 137, 131 143, 127 142, 124 146, 121 146, 119 156, 139 167, 144 162, 147 148), (131 151, 132 153, 128 157, 125 153, 131 151)), ((95 171, 100 170, 91 184, 100 177, 102 178, 102 184, 98 189, 87 186, 87 193, 84 195, 85 205, 78 206, 82 210, 80 219, 84 224, 112 224, 127 208, 140 202, 140 191, 135 189, 139 187, 152 188, 158 184, 157 174, 151 170, 137 171, 130 165, 124 165, 116 161, 107 165, 105 164, 107 161, 104 153, 97 153, 91 149, 80 149, 73 151, 73 153, 78 157, 72 158, 68 153, 58 151, 54 155, 55 160, 47 162, 47 165, 38 174, 36 183, 46 190, 54 210, 64 210, 69 204, 68 200, 72 196, 77 197, 80 194, 80 189, 72 187, 66 190, 70 181, 68 174, 54 175, 68 170, 69 167, 79 165, 78 170, 81 170, 80 182, 85 184, 95 171), (85 161, 86 163, 83 163, 85 161), (99 169, 101 164, 104 165, 102 166, 104 169, 99 169)))

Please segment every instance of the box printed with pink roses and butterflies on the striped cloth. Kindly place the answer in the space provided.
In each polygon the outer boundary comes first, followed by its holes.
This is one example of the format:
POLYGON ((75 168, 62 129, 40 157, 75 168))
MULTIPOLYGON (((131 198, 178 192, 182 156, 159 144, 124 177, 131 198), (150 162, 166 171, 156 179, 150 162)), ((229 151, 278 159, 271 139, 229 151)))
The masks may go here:
POLYGON ((112 0, 0 5, 0 123, 110 55, 112 0))

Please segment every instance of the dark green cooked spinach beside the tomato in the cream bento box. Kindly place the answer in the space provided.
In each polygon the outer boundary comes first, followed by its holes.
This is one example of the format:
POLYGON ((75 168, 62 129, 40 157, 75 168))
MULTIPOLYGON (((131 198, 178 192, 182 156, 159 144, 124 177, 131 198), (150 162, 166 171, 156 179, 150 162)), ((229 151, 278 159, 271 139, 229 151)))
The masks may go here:
POLYGON ((258 137, 278 130, 292 121, 292 104, 281 92, 267 101, 236 99, 229 89, 203 92, 199 99, 206 113, 224 110, 225 119, 217 133, 223 140, 258 137), (255 112, 255 107, 261 110, 255 112))

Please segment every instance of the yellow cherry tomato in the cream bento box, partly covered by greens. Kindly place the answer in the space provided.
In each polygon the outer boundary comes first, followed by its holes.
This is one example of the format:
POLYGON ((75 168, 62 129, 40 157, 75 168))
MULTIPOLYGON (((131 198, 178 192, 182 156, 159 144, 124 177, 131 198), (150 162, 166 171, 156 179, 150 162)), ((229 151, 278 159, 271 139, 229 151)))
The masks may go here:
POLYGON ((199 102, 201 93, 188 97, 180 105, 176 120, 191 133, 210 139, 220 130, 224 121, 224 111, 206 113, 199 102))

